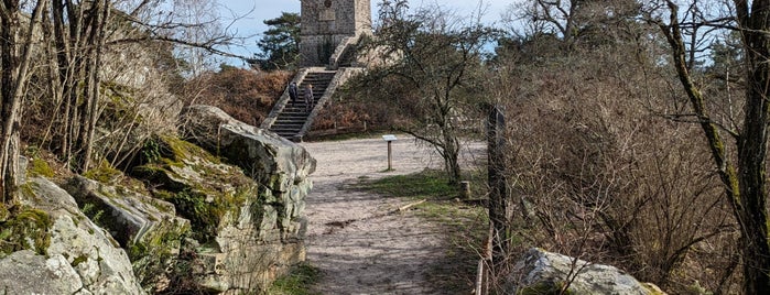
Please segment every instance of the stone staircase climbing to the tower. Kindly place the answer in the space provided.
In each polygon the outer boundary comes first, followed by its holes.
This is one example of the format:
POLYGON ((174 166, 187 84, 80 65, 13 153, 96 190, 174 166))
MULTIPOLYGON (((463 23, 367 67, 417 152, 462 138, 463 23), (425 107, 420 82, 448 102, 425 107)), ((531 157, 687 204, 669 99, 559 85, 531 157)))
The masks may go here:
MULTIPOLYGON (((290 140, 302 140, 301 133, 303 127, 305 127, 308 118, 313 113, 313 110, 305 111, 305 85, 313 85, 313 97, 315 98, 314 106, 317 108, 321 99, 327 95, 326 91, 329 90, 329 85, 336 74, 337 70, 313 69, 307 72, 300 80, 295 80, 299 95, 296 103, 292 103, 291 100, 288 99, 288 94, 284 94, 286 98, 282 100, 285 100, 285 103, 280 112, 278 112, 274 121, 272 121, 267 129, 290 140), (297 139, 297 136, 300 139, 297 139)), ((276 105, 276 107, 279 106, 276 105)), ((264 124, 262 128, 265 128, 264 124)))

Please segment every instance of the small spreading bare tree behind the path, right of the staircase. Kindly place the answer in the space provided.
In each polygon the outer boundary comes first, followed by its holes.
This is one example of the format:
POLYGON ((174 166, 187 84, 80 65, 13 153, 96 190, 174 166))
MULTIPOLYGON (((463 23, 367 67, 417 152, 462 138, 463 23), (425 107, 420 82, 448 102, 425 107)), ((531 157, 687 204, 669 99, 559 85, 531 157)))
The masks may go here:
POLYGON ((392 114, 409 118, 394 128, 434 146, 456 184, 462 128, 481 128, 471 101, 480 94, 481 46, 494 31, 438 8, 410 14, 406 1, 383 1, 380 23, 370 45, 387 62, 365 79, 362 95, 393 100, 392 114))

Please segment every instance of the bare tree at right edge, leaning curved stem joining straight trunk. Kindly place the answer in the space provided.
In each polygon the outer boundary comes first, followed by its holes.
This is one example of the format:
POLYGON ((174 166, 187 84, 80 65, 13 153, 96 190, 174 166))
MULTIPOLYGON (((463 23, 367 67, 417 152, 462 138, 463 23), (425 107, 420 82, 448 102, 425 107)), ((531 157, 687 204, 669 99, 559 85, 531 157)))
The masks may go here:
MULTIPOLYGON (((691 8, 703 1, 690 1, 691 8)), ((735 0, 726 8, 725 20, 684 19, 680 4, 664 1, 669 15, 655 20, 665 34, 672 52, 672 66, 690 100, 692 118, 701 125, 711 150, 725 197, 740 228, 740 249, 745 294, 770 292, 770 240, 767 212, 768 94, 770 92, 770 1, 735 0), (715 25, 740 32, 746 67, 746 103, 739 130, 719 125, 707 109, 702 92, 687 64, 686 28, 715 25), (729 140, 733 139, 730 144, 729 140), (733 152, 730 148, 735 149, 733 152), (735 153, 735 157, 733 154, 735 153), (734 162, 735 161, 735 162, 734 162)), ((686 15, 686 14, 685 14, 686 15)))

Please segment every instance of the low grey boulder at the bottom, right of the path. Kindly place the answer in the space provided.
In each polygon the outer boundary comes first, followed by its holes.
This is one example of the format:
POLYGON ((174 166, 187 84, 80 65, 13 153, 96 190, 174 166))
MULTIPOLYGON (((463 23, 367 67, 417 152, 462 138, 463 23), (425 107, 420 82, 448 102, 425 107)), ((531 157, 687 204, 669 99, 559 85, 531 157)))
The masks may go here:
POLYGON ((532 248, 506 277, 505 294, 664 294, 654 285, 643 284, 615 266, 532 248))

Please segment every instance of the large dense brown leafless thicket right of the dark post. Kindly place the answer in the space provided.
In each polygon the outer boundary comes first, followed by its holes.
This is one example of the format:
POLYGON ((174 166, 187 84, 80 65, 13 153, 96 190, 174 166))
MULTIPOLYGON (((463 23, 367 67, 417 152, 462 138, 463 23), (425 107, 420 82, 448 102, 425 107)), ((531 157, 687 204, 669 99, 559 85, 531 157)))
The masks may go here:
POLYGON ((736 258, 722 249, 735 221, 704 140, 696 124, 654 114, 681 102, 671 76, 628 56, 573 53, 512 65, 503 79, 514 88, 502 99, 513 222, 529 239, 517 250, 612 264, 673 293, 697 282, 728 292, 736 258))

